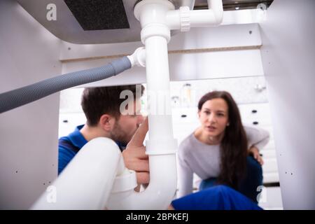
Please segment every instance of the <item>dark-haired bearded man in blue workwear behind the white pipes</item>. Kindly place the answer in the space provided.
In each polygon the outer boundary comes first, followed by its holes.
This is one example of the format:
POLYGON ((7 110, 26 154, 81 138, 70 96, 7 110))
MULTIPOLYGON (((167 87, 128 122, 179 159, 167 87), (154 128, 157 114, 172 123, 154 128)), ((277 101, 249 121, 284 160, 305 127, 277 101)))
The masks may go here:
POLYGON ((141 95, 143 85, 124 85, 113 87, 88 87, 83 90, 81 106, 87 119, 66 137, 59 139, 58 174, 68 165, 87 141, 97 137, 107 137, 116 141, 123 151, 128 169, 137 174, 137 182, 149 182, 148 155, 144 146, 127 144, 134 132, 144 122, 141 116, 141 95), (126 93, 128 97, 126 103, 126 93))

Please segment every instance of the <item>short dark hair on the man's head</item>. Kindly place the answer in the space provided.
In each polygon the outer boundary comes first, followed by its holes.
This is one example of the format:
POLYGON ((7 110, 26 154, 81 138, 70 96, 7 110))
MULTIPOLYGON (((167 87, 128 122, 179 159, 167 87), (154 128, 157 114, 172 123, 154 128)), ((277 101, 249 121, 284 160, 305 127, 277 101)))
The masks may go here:
MULTIPOLYGON (((120 85, 110 87, 87 87, 83 90, 81 106, 87 119, 87 125, 96 126, 99 118, 104 114, 109 114, 115 118, 120 117, 120 104, 126 99, 120 99, 120 92, 130 90, 137 97, 136 91, 144 93, 143 85, 120 85), (139 91, 140 92, 140 91, 139 91)), ((138 93, 139 94, 139 93, 138 93)))

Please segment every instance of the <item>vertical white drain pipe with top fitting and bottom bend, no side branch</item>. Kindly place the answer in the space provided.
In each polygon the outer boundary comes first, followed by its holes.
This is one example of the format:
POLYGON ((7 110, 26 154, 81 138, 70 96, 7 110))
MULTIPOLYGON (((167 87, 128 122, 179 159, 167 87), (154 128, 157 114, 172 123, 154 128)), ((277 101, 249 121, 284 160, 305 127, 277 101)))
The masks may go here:
POLYGON ((173 137, 167 43, 171 38, 165 18, 174 10, 166 0, 141 1, 134 15, 141 22, 146 48, 150 183, 141 193, 112 193, 109 209, 167 209, 176 193, 176 148, 173 137))

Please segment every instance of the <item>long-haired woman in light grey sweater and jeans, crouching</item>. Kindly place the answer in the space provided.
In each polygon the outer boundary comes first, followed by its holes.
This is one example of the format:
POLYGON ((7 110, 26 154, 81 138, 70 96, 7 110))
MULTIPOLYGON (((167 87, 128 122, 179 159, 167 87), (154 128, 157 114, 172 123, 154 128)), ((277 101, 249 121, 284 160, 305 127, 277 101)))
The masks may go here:
POLYGON ((178 197, 193 192, 195 173, 204 180, 201 189, 222 184, 257 202, 263 164, 259 148, 269 141, 268 132, 243 127, 237 104, 225 91, 205 94, 198 116, 201 126, 179 146, 178 197))

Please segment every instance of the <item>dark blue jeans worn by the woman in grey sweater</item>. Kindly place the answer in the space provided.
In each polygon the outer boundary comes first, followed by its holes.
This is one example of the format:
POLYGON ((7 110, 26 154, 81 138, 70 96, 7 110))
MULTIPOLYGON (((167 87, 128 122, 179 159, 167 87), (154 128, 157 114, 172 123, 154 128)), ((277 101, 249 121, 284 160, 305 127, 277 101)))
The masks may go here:
MULTIPOLYGON (((200 183, 200 190, 216 186, 216 178, 209 178, 200 183)), ((262 167, 253 156, 248 155, 246 158, 246 175, 239 183, 239 193, 257 202, 257 195, 260 193, 257 190, 258 186, 262 186, 262 167)))

